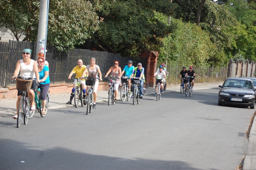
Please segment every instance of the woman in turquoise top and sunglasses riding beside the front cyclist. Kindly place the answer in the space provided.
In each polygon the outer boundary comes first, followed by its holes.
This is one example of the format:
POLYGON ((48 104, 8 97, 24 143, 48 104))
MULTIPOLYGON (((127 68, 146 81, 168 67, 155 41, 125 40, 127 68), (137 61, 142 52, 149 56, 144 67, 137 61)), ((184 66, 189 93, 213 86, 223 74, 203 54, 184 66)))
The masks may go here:
POLYGON ((40 83, 38 88, 40 88, 40 96, 39 99, 42 103, 42 111, 41 113, 45 114, 45 104, 46 104, 46 94, 50 87, 50 78, 49 78, 49 67, 47 65, 44 65, 44 58, 39 57, 37 59, 38 62, 38 72, 39 72, 39 79, 40 83), (44 83, 45 81, 45 83, 44 83))

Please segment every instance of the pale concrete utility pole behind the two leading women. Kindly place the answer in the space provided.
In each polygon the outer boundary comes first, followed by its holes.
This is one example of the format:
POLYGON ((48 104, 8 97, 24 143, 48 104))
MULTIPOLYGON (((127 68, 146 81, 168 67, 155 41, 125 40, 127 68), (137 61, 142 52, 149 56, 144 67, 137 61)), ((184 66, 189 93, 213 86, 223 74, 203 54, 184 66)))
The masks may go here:
POLYGON ((49 0, 40 0, 36 53, 41 51, 45 54, 48 26, 48 11, 49 0))

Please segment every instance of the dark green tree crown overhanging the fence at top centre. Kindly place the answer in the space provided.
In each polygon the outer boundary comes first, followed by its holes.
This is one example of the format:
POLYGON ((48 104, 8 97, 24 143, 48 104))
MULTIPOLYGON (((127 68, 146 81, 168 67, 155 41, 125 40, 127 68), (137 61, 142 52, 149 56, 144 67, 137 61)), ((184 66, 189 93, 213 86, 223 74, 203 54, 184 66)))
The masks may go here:
POLYGON ((96 40, 101 39, 122 56, 139 56, 143 50, 157 50, 159 38, 171 32, 158 14, 171 15, 169 0, 105 0, 94 6, 101 22, 96 40))

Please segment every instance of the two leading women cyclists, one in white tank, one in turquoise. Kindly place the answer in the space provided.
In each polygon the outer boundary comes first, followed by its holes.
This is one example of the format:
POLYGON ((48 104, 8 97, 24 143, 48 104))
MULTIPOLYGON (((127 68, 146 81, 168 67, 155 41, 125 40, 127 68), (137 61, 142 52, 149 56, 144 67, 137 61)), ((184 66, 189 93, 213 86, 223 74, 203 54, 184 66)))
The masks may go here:
MULTIPOLYGON (((16 68, 12 76, 12 80, 14 80, 14 78, 16 78, 19 75, 19 73, 20 73, 19 78, 36 79, 36 81, 32 82, 31 89, 27 92, 28 97, 31 101, 30 109, 31 111, 35 110, 34 91, 37 89, 40 89, 39 99, 41 100, 41 103, 42 103, 41 113, 44 115, 45 104, 46 104, 46 94, 50 87, 49 67, 48 67, 49 63, 45 61, 43 52, 40 51, 37 54, 38 56, 37 61, 31 59, 31 53, 32 53, 31 49, 24 49, 22 51, 23 59, 20 59, 17 61, 16 68), (39 83, 39 86, 38 86, 38 83, 39 83)), ((20 102, 22 93, 23 91, 18 90, 18 94, 17 94, 18 98, 16 102, 17 114, 13 116, 14 119, 17 119, 18 107, 19 107, 19 102, 20 102)))

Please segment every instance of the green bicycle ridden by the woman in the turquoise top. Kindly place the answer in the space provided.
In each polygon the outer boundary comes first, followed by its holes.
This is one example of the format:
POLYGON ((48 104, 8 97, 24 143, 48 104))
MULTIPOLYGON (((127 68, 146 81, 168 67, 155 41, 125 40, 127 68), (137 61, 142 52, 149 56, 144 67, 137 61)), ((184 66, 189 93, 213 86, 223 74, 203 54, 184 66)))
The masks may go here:
MULTIPOLYGON (((36 80, 33 80, 33 81, 36 81, 36 80)), ((43 81, 43 83, 45 83, 45 81, 43 81)), ((39 85, 39 84, 37 83, 37 85, 39 85)), ((41 109, 43 107, 41 105, 41 100, 39 99, 38 89, 35 89, 34 93, 35 93, 35 98, 34 98, 35 110, 29 112, 29 119, 31 119, 34 116, 36 110, 38 111, 38 113, 40 113, 41 117, 45 117, 45 115, 46 115, 46 113, 48 111, 48 107, 49 107, 50 91, 48 91, 47 94, 46 94, 45 114, 42 114, 42 110, 41 109)))

